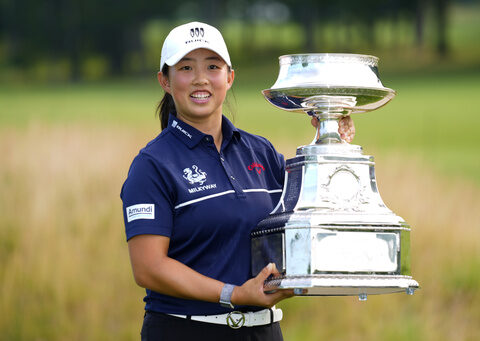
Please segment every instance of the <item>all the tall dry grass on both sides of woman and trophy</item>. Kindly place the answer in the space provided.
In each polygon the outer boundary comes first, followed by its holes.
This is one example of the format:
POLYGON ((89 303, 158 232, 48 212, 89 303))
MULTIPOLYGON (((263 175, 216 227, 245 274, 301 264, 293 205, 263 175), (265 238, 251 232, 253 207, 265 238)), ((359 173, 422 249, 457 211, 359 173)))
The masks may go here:
MULTIPOLYGON (((119 192, 148 134, 0 131, 0 340, 139 339, 143 290, 131 275, 119 192)), ((367 302, 293 298, 281 304, 285 339, 480 339, 480 189, 402 155, 376 161, 384 201, 413 227, 422 289, 367 302)))

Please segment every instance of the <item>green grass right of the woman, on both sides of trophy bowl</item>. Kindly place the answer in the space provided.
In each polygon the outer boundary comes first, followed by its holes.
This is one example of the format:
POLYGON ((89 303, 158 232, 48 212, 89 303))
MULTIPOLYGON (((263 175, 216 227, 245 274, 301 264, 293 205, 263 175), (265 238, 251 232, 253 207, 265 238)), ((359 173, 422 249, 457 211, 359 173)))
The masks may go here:
MULTIPOLYGON (((353 115, 354 143, 367 154, 381 155, 392 149, 413 154, 440 171, 480 182, 480 72, 387 75, 383 81, 397 96, 383 108, 353 115)), ((281 146, 313 139, 306 115, 278 110, 259 93, 239 90, 237 121, 246 130, 281 146)))

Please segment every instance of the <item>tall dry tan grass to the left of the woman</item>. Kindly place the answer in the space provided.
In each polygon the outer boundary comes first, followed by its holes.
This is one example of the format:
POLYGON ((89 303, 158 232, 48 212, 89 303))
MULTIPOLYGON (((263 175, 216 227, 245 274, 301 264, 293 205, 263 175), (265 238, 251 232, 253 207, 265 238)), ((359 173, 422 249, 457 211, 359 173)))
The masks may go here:
POLYGON ((2 131, 0 339, 134 339, 120 186, 143 139, 122 129, 2 131))

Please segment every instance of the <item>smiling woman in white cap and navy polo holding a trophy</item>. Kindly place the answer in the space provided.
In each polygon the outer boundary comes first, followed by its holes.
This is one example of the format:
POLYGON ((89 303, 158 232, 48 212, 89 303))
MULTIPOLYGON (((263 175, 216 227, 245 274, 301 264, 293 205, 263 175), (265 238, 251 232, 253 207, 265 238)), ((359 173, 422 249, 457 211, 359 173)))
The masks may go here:
POLYGON ((273 264, 251 278, 250 231, 280 198, 283 156, 223 116, 235 74, 216 28, 174 28, 160 70, 162 132, 121 193, 133 274, 147 293, 142 340, 282 340, 274 305, 293 292, 263 291, 273 264))

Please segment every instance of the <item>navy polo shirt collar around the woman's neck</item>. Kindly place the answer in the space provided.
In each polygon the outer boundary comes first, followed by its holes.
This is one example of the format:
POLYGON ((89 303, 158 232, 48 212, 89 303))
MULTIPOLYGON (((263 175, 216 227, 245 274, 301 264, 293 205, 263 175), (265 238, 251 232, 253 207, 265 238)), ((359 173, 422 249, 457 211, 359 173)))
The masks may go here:
MULTIPOLYGON (((207 136, 207 134, 202 133, 200 130, 183 122, 174 115, 169 115, 167 130, 171 131, 172 134, 177 136, 178 139, 185 143, 190 149, 198 145, 200 141, 207 136)), ((241 136, 240 130, 237 129, 225 116, 222 116, 222 134, 224 140, 222 144, 230 142, 232 137, 238 141, 241 136)))

